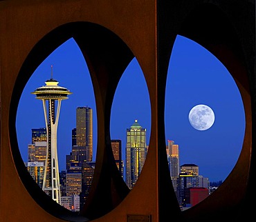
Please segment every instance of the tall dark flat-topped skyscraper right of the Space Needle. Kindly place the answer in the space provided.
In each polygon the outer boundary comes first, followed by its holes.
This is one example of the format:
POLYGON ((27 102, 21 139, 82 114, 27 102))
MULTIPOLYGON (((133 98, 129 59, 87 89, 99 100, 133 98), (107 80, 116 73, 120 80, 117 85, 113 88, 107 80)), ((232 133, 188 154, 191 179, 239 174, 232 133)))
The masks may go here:
POLYGON ((76 110, 76 145, 86 148, 87 159, 93 160, 93 110, 78 107, 76 110))

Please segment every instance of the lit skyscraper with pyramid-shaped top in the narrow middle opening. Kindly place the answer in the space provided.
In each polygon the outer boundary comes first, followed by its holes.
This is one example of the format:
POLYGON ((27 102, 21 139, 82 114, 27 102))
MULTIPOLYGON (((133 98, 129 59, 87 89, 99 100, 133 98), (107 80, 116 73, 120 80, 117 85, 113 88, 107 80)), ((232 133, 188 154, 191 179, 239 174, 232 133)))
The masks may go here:
POLYGON ((126 145, 126 183, 134 187, 147 157, 146 129, 138 124, 137 119, 127 129, 126 145))

